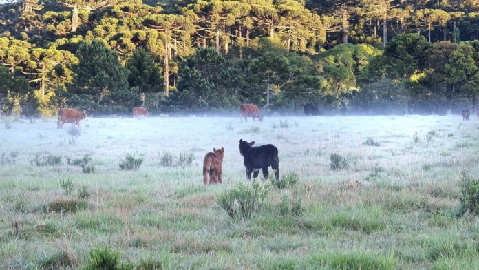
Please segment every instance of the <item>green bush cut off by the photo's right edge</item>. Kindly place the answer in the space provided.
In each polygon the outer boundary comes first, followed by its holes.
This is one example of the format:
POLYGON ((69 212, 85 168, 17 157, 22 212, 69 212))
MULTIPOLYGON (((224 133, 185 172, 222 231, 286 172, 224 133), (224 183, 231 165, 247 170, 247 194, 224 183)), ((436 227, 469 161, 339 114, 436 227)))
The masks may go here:
POLYGON ((462 172, 460 180, 460 205, 462 212, 471 211, 479 213, 479 179, 471 179, 465 172, 462 172))

